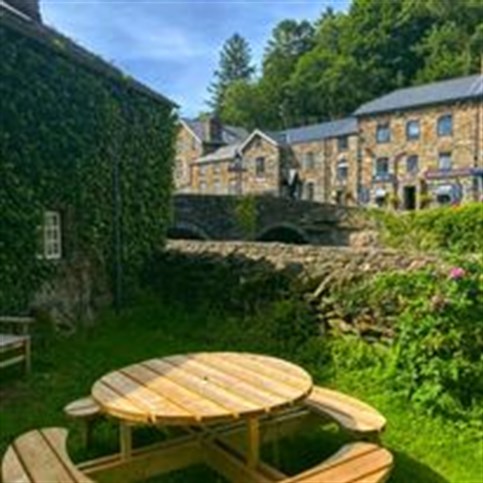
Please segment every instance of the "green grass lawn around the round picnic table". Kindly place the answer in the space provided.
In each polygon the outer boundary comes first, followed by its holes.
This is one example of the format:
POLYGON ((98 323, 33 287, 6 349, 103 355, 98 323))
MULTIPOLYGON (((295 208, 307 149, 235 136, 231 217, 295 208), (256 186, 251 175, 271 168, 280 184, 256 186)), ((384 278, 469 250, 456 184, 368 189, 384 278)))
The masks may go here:
MULTIPOLYGON (((246 320, 210 315, 209 310, 193 307, 190 311, 149 299, 120 317, 106 314, 94 327, 71 337, 53 338, 39 330, 31 376, 19 378, 15 369, 1 374, 0 453, 15 436, 55 425, 71 429, 69 449, 75 460, 114 451, 115 427, 105 422, 95 433, 95 447, 86 454, 78 426, 63 415, 64 405, 89 394, 93 382, 106 372, 154 356, 221 349, 277 353, 263 337, 252 337, 246 324, 246 320)), ((314 359, 307 368, 319 383, 360 397, 386 416, 383 442, 395 455, 391 482, 483 482, 483 441, 476 429, 416 411, 390 392, 370 367, 334 371, 314 359)), ((146 440, 151 434, 146 430, 137 437, 146 440)), ((285 441, 283 469, 290 473, 317 463, 346 439, 333 430, 316 428, 313 434, 285 441)), ((156 481, 221 479, 206 468, 192 468, 156 481)))

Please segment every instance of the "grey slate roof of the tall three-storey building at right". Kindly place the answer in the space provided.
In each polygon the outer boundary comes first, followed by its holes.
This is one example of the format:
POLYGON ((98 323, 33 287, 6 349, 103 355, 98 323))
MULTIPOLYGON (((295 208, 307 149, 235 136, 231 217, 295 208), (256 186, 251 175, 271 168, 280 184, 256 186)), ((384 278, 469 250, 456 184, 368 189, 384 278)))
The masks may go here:
POLYGON ((410 109, 414 107, 483 98, 481 74, 398 89, 360 106, 355 116, 410 109))

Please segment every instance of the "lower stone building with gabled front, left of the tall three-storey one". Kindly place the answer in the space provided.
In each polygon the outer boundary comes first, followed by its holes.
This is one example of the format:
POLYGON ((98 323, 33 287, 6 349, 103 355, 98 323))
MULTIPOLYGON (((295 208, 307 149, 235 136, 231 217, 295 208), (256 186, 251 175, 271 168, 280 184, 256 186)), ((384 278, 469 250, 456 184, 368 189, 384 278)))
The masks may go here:
POLYGON ((243 142, 192 164, 195 193, 270 194, 348 203, 355 200, 355 118, 284 131, 256 129, 243 142))

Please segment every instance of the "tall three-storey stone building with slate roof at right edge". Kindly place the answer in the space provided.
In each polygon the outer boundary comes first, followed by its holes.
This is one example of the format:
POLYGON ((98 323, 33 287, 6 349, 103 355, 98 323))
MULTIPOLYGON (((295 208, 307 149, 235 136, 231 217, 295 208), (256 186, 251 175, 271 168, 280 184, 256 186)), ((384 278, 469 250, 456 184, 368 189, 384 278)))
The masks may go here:
POLYGON ((483 194, 483 76, 400 89, 362 105, 360 202, 411 210, 483 194))

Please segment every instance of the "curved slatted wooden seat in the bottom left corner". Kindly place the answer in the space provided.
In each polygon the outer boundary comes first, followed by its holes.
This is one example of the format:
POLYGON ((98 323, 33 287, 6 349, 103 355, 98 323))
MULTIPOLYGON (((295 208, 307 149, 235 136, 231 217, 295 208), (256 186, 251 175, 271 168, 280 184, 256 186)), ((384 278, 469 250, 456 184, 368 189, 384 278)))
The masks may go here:
POLYGON ((36 429, 19 436, 2 461, 4 483, 92 483, 66 450, 67 430, 36 429))

